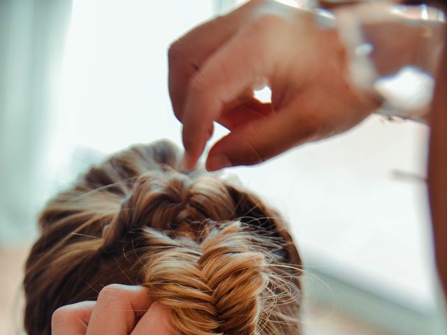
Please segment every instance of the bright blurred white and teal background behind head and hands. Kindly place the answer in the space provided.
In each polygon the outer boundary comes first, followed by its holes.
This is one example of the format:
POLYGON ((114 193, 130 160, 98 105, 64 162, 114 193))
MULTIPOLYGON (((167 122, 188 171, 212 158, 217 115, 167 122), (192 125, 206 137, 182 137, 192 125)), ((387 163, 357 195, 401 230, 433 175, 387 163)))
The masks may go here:
MULTIPOLYGON (((1 335, 20 334, 20 281, 38 211, 107 154, 160 138, 181 145, 168 47, 241 2, 0 1, 1 335)), ((214 141, 224 133, 217 128, 214 141)), ((291 224, 308 272, 305 334, 447 334, 427 135, 423 124, 374 115, 344 135, 224 172, 291 224)))

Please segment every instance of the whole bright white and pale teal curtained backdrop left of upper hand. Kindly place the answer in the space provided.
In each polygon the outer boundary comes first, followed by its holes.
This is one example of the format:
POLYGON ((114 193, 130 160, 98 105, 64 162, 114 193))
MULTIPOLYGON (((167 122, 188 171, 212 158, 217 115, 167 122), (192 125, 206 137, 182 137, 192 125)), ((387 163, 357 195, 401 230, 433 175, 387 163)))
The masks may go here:
POLYGON ((0 247, 32 241, 43 203, 97 152, 180 142, 168 47, 227 3, 0 1, 0 247))

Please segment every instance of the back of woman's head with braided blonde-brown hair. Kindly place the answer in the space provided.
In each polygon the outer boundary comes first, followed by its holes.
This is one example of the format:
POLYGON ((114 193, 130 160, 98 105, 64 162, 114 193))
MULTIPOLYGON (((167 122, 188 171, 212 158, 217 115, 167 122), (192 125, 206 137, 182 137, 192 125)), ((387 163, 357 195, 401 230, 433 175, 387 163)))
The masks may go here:
POLYGON ((279 216, 168 142, 91 168, 41 214, 24 290, 29 334, 105 285, 145 285, 181 334, 298 334, 300 258, 279 216))

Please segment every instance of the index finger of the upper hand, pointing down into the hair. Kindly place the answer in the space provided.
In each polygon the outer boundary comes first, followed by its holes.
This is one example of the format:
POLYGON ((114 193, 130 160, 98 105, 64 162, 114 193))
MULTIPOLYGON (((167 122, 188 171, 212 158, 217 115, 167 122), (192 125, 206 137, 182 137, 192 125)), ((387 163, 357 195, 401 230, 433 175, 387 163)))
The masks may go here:
POLYGON ((196 165, 223 106, 269 76, 273 61, 267 61, 262 29, 262 25, 251 24, 233 36, 191 78, 182 130, 186 169, 196 165))

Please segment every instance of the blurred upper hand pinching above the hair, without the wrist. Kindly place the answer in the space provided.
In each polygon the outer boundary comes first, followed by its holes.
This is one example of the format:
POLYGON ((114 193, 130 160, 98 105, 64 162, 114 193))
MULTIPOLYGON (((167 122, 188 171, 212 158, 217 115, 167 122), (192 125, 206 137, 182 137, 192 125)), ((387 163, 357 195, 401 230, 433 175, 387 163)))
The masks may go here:
POLYGON ((261 163, 358 124, 376 104, 353 91, 346 66, 335 29, 274 1, 249 1, 193 29, 169 50, 186 168, 198 161, 213 121, 230 133, 212 147, 208 170, 261 163), (253 98, 262 84, 272 89, 271 104, 253 98))

